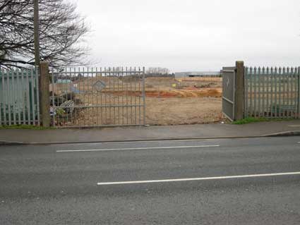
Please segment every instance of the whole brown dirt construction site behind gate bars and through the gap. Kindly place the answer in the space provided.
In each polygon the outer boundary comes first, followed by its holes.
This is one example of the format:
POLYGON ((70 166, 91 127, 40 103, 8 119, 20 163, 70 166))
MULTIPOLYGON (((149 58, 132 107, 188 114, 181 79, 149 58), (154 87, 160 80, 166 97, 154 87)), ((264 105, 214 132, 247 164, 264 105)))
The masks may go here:
MULTIPOLYGON (((141 80, 136 78, 103 76, 56 83, 50 90, 56 96, 73 92, 71 99, 80 107, 72 111, 73 116, 63 110, 60 116, 56 115, 55 123, 60 123, 60 126, 142 124, 142 85, 141 80), (105 87, 95 92, 95 84, 101 85, 99 82, 105 87), (90 107, 128 104, 138 107, 90 107)), ((146 124, 217 123, 222 120, 221 108, 222 78, 145 78, 146 124)))

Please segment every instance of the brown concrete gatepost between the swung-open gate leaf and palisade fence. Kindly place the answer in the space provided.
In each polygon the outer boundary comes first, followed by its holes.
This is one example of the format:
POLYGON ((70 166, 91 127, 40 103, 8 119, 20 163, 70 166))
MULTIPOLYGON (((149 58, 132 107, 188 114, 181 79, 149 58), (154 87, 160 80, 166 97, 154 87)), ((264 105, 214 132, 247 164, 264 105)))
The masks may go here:
POLYGON ((244 118, 244 61, 236 61, 234 120, 244 118))

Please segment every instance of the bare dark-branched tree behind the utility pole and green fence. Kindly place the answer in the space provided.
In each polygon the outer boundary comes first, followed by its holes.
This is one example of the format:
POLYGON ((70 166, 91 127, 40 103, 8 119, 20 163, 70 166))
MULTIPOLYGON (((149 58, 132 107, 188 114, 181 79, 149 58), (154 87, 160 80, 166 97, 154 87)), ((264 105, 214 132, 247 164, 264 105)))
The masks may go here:
MULTIPOLYGON (((76 5, 64 0, 40 0, 40 59, 51 66, 82 63, 88 54, 89 29, 76 5)), ((35 64, 33 1, 0 0, 0 65, 35 64)))

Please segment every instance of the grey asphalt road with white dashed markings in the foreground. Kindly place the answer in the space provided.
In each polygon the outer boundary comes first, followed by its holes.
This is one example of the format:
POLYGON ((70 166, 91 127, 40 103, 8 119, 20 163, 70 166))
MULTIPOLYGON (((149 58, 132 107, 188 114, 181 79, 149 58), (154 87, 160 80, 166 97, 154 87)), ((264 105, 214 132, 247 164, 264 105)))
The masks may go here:
POLYGON ((299 142, 1 146, 0 224, 300 224, 299 142))

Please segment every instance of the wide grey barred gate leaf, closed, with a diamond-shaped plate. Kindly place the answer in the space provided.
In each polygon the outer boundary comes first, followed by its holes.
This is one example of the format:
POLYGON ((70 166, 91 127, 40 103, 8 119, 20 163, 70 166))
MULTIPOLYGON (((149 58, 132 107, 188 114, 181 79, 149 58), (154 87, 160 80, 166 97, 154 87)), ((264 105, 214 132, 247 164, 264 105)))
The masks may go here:
POLYGON ((52 126, 145 124, 145 68, 64 68, 50 84, 52 126))

